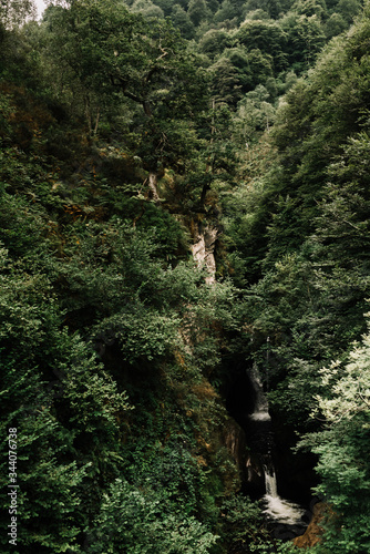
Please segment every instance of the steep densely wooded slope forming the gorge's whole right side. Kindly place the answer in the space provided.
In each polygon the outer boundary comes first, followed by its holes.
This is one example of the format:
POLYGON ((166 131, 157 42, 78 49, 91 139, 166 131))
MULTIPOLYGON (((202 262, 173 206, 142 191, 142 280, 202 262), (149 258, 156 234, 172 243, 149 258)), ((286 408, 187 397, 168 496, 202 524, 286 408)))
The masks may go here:
POLYGON ((259 141, 245 155, 251 178, 224 202, 237 283, 244 267, 250 278, 253 255, 260 264, 244 297, 244 348, 279 423, 316 431, 302 444, 332 510, 317 553, 369 547, 368 336, 353 347, 369 298, 368 39, 366 13, 285 96, 270 157, 257 160, 263 178, 253 173, 259 141))

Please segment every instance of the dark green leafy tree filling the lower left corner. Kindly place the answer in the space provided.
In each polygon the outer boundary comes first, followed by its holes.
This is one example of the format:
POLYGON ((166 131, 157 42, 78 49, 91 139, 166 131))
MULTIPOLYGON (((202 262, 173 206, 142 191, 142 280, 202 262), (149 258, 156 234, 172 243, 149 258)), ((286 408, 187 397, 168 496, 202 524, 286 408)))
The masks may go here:
MULTIPOLYGON (((96 499, 99 450, 114 450, 116 414, 129 404, 80 337, 61 330, 48 279, 1 254, 2 432, 18 429, 19 545, 80 552, 75 538, 96 499)), ((4 480, 6 452, 2 460, 4 480)))

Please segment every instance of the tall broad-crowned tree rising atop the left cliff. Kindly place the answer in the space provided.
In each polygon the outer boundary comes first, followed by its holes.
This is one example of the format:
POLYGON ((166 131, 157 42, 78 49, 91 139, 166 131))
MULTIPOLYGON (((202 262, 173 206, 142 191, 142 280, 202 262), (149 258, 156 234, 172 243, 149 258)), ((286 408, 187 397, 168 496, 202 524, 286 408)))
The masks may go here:
POLYGON ((186 155, 196 116, 207 103, 201 94, 205 75, 195 57, 187 55, 168 21, 148 24, 119 2, 72 3, 68 10, 58 9, 48 24, 50 52, 68 65, 71 79, 103 107, 120 105, 123 99, 131 103, 134 132, 141 134, 136 152, 157 197, 158 167, 186 155))

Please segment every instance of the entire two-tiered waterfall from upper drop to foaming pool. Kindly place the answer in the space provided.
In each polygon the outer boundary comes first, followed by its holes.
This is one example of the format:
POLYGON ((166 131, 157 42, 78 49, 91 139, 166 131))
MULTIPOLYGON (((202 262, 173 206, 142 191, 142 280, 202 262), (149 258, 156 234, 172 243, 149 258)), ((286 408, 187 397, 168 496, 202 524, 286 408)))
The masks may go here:
POLYGON ((268 401, 264 393, 261 379, 256 366, 248 371, 248 376, 255 392, 255 406, 253 413, 249 414, 249 420, 255 422, 255 425, 258 425, 255 434, 259 437, 255 441, 258 444, 257 448, 260 449, 265 474, 266 494, 263 501, 266 504, 266 509, 264 512, 277 523, 295 525, 301 522, 305 510, 298 504, 281 499, 278 495, 276 473, 271 458, 273 431, 270 425, 271 418, 268 412, 268 401))

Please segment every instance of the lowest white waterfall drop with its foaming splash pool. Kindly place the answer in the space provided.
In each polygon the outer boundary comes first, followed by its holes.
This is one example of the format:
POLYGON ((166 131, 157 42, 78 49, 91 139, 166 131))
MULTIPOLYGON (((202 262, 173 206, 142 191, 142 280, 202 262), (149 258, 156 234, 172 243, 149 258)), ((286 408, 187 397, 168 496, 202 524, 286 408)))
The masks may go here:
POLYGON ((266 484, 266 494, 264 496, 266 503, 266 510, 264 510, 265 514, 269 515, 278 523, 285 523, 286 525, 300 523, 305 510, 295 502, 289 502, 278 495, 274 469, 268 470, 268 468, 264 465, 264 471, 266 484))

